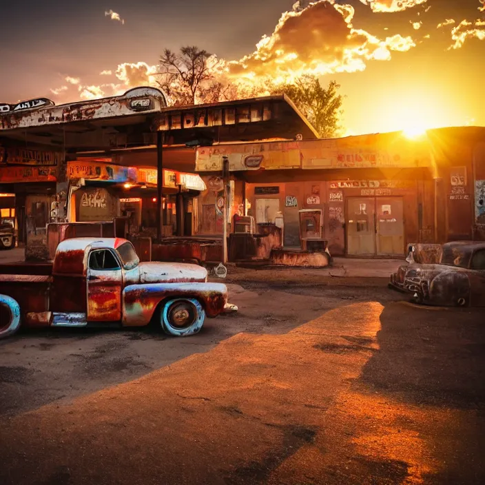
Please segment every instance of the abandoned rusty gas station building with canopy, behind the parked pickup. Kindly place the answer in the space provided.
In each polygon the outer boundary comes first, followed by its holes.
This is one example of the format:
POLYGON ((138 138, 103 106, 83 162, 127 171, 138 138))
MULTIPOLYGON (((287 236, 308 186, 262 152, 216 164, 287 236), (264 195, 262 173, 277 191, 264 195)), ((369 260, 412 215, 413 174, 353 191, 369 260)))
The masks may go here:
POLYGON ((32 258, 98 234, 148 259, 316 266, 325 249, 402 257, 485 238, 483 128, 320 140, 285 96, 167 107, 152 87, 35 100, 0 123, 0 192, 32 258))

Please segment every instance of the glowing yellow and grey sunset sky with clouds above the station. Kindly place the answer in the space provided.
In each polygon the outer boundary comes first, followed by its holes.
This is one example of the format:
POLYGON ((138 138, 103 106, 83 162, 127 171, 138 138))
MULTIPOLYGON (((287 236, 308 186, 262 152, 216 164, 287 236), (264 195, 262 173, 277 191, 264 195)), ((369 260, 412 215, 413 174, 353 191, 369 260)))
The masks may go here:
POLYGON ((294 3, 3 2, 0 102, 122 93, 154 82, 163 48, 198 45, 234 79, 335 79, 347 96, 344 134, 485 125, 480 0, 294 3))

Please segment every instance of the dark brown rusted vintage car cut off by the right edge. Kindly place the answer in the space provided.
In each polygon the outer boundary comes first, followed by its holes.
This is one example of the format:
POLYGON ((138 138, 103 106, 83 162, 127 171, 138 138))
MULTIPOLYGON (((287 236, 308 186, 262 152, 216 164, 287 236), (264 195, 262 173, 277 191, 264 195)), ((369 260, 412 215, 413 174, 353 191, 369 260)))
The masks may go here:
POLYGON ((413 245, 407 260, 391 275, 391 288, 424 305, 485 307, 485 243, 455 241, 440 250, 413 245))

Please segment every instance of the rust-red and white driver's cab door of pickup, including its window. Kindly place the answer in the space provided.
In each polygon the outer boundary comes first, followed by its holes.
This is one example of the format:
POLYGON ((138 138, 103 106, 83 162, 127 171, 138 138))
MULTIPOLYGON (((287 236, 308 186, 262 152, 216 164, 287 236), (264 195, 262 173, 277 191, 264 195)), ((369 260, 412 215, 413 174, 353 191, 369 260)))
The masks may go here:
POLYGON ((87 265, 87 321, 121 320, 123 275, 110 249, 91 251, 87 265))

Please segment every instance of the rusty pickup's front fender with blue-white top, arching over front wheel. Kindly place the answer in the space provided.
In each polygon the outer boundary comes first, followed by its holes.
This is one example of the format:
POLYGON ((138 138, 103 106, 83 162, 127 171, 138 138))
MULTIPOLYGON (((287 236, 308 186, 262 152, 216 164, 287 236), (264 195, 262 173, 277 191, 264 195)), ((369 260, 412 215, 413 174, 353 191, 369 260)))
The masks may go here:
POLYGON ((196 298, 208 317, 223 313, 227 287, 221 283, 149 283, 130 285, 123 290, 123 324, 147 325, 158 305, 169 298, 196 298))

